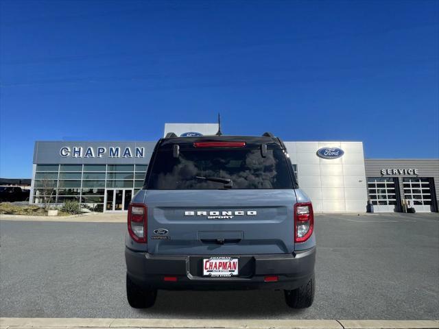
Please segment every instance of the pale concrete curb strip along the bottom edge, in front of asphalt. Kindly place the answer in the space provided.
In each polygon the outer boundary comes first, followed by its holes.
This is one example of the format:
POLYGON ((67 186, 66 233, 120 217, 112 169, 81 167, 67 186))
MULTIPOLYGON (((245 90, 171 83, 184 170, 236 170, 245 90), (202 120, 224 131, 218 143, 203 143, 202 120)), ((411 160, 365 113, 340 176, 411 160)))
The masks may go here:
POLYGON ((220 320, 79 319, 1 317, 1 329, 19 328, 233 328, 233 329, 437 329, 437 320, 220 320))

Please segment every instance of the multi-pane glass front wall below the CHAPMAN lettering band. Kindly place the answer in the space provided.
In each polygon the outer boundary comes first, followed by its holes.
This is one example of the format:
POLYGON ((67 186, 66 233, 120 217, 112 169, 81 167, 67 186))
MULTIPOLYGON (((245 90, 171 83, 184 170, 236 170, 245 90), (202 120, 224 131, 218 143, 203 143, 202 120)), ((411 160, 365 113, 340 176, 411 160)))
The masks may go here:
POLYGON ((146 164, 37 164, 34 203, 67 200, 94 211, 128 210, 132 195, 145 180, 146 164))

